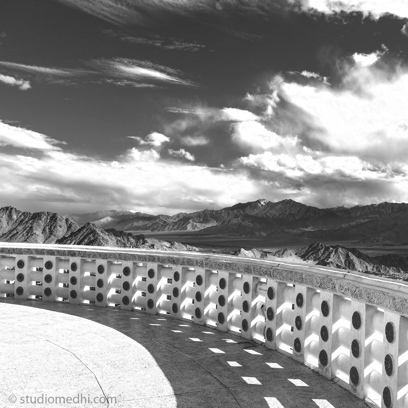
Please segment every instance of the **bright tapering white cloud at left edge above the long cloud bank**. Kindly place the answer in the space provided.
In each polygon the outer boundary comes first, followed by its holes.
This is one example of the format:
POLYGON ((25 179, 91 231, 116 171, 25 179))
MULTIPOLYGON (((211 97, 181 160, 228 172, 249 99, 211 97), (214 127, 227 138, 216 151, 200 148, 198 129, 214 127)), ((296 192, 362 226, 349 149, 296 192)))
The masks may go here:
POLYGON ((60 150, 56 144, 59 142, 48 136, 25 129, 24 127, 12 126, 0 120, 0 145, 14 146, 39 150, 60 150))

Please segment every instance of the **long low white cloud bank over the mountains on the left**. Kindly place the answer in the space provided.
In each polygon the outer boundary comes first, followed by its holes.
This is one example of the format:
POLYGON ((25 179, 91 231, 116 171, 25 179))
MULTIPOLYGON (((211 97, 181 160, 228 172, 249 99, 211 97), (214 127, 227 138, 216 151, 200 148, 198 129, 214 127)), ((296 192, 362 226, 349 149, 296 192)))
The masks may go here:
MULTIPOLYGON (((44 140, 40 142, 38 147, 44 148, 44 140)), ((132 148, 113 160, 102 160, 53 148, 50 145, 41 158, 0 152, 2 202, 64 213, 109 208, 173 213, 258 196, 245 170, 164 160, 154 149, 132 148)))

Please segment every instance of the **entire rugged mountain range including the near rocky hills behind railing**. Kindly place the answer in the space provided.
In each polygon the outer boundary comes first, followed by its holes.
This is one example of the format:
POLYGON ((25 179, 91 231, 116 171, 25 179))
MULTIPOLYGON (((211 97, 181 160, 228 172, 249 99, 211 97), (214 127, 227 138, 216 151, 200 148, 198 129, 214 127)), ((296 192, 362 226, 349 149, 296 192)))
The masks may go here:
MULTIPOLYGON (((287 237, 325 236, 368 240, 405 240, 408 238, 408 205, 381 203, 350 209, 318 209, 284 200, 272 203, 257 200, 239 203, 222 210, 203 210, 174 216, 149 215, 131 211, 107 211, 65 217, 57 213, 22 212, 13 207, 0 208, 0 242, 57 243, 151 249, 199 250, 180 242, 146 238, 112 228, 112 225, 147 230, 213 231, 224 235, 274 234, 287 237), (109 222, 107 221, 109 219, 109 222), (90 222, 93 221, 93 222, 90 222), (103 229, 103 226, 109 228, 103 229), (180 228, 180 229, 179 229, 180 228), (183 230, 183 228, 185 228, 183 230)), ((407 239, 408 240, 408 239, 407 239)), ((231 248, 230 248, 231 249, 231 248)), ((206 249, 218 251, 219 248, 206 249)), ((237 256, 307 262, 317 265, 408 279, 408 258, 386 254, 369 257, 356 248, 313 242, 300 249, 264 251, 240 249, 237 256)))

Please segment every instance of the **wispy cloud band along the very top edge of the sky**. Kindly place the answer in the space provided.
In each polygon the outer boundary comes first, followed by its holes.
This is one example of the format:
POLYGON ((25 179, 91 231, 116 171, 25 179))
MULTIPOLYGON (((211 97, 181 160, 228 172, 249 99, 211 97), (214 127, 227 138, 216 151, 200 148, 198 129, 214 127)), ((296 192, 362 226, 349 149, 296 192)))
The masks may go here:
POLYGON ((117 25, 148 25, 157 18, 169 15, 190 17, 197 13, 228 16, 232 10, 262 15, 263 18, 277 10, 300 10, 335 15, 341 12, 361 12, 365 16, 379 18, 392 14, 408 18, 406 0, 57 0, 117 25))

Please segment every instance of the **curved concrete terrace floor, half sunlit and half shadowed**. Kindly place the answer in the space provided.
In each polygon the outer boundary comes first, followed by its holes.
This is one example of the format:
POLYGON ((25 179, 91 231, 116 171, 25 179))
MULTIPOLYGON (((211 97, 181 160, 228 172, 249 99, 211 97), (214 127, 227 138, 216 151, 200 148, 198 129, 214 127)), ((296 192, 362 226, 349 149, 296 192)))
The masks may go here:
POLYGON ((208 327, 87 305, 0 301, 0 406, 108 406, 27 403, 27 396, 78 394, 115 397, 113 408, 367 406, 281 353, 208 327))

